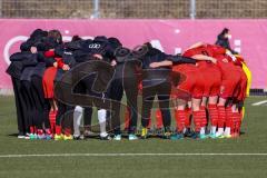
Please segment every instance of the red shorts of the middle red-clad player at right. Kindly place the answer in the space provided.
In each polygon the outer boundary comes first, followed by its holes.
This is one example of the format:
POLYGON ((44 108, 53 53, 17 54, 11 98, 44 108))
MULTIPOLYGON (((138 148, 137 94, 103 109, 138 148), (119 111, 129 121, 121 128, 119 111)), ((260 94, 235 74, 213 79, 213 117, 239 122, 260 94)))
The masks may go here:
POLYGON ((204 97, 215 97, 220 93, 221 72, 212 63, 199 67, 204 80, 204 97))

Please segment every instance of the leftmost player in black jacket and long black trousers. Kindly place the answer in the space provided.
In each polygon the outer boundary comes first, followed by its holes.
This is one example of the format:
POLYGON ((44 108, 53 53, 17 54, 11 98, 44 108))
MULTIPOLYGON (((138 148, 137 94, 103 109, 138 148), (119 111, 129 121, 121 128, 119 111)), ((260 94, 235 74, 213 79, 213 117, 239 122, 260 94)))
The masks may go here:
POLYGON ((47 32, 41 29, 34 30, 30 38, 20 46, 21 52, 10 57, 11 65, 7 72, 13 82, 19 138, 23 138, 30 131, 31 138, 36 138, 33 126, 38 125, 40 117, 37 117, 37 100, 31 77, 34 75, 36 65, 42 60, 38 49, 42 47, 41 41, 46 34, 47 32))

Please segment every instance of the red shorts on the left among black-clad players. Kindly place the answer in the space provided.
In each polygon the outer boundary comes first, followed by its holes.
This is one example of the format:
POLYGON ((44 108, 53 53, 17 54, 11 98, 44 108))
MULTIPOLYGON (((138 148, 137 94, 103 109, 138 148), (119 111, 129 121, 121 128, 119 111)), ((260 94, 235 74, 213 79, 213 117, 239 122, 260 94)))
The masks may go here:
POLYGON ((57 68, 50 67, 43 73, 42 88, 44 92, 44 98, 53 98, 53 80, 57 75, 57 68))

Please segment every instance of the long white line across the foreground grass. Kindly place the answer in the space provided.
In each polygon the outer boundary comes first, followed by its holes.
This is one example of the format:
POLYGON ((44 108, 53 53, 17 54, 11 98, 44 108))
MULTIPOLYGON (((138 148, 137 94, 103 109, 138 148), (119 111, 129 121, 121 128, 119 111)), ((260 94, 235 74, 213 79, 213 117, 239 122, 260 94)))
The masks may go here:
POLYGON ((32 155, 0 155, 0 158, 27 157, 135 157, 135 156, 267 156, 267 154, 32 154, 32 155))

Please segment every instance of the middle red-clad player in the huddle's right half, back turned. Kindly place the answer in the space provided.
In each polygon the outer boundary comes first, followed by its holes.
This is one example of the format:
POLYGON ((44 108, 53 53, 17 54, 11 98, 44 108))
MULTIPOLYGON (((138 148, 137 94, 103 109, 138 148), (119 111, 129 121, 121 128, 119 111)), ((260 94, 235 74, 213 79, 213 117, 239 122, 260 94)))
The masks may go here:
POLYGON ((185 53, 187 57, 195 57, 198 60, 197 67, 199 68, 199 72, 202 76, 204 80, 204 93, 200 106, 201 112, 201 129, 200 129, 200 138, 205 139, 206 135, 206 126, 207 126, 207 116, 206 109, 209 111, 210 125, 211 125, 211 135, 216 132, 216 127, 218 122, 218 110, 217 110, 217 101, 220 92, 220 83, 221 83, 221 72, 220 69, 215 65, 217 60, 212 59, 215 56, 214 51, 206 43, 196 43, 191 46, 185 53), (204 61, 206 58, 212 59, 211 61, 204 61), (202 60, 200 60, 202 59, 202 60))

